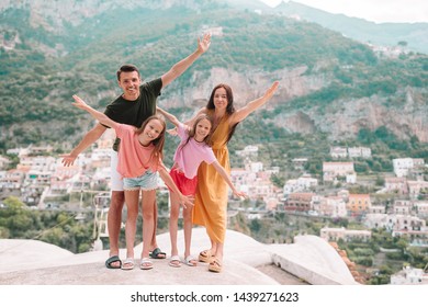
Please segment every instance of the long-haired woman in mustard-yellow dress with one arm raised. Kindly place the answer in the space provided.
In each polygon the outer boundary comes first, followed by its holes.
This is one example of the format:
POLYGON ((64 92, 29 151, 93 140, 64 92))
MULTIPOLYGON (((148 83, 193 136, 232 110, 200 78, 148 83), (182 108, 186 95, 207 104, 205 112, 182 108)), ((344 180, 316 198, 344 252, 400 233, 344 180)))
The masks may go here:
MULTIPOLYGON (((235 110, 232 89, 222 83, 213 89, 209 103, 198 112, 196 116, 206 113, 213 117, 212 148, 218 162, 228 173, 230 173, 230 162, 227 143, 230 140, 236 125, 267 103, 277 91, 278 86, 278 81, 273 82, 262 96, 239 110, 235 110)), ((227 189, 226 182, 212 166, 204 162, 200 166, 193 224, 204 226, 210 237, 211 249, 202 251, 199 254, 199 260, 209 262, 211 272, 222 271, 227 227, 227 189)))

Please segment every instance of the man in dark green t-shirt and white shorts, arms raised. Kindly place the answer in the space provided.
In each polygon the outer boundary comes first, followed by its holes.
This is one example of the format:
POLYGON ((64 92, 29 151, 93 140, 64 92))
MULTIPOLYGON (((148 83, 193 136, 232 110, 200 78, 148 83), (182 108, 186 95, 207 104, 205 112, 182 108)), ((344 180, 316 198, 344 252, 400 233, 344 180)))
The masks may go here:
MULTIPOLYGON (((156 113, 156 100, 158 95, 160 95, 160 90, 181 76, 202 54, 209 49, 210 44, 210 34, 205 34, 202 39, 198 38, 198 49, 194 53, 173 65, 170 70, 160 78, 143 84, 139 71, 135 66, 122 66, 117 70, 116 75, 119 87, 123 90, 123 93, 106 106, 104 113, 117 123, 139 127, 147 117, 156 113)), ((108 127, 98 123, 85 135, 82 140, 71 150, 70 154, 63 156, 64 166, 72 166, 79 154, 98 140, 106 128, 108 127)), ((105 266, 109 269, 120 269, 122 265, 119 257, 119 236, 125 197, 122 179, 116 171, 119 148, 120 140, 116 139, 113 146, 111 159, 112 195, 108 215, 110 257, 105 261, 105 266)), ((166 258, 166 253, 160 251, 156 242, 157 206, 155 206, 154 218, 155 232, 151 240, 151 257, 166 258)))

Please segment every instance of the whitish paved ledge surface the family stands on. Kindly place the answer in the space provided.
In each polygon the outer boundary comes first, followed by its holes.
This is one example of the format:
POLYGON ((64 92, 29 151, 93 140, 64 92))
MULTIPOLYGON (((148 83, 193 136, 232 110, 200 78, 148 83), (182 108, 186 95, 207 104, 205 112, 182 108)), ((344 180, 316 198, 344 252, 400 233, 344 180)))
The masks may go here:
MULTIPOLYGON (((179 231, 179 250, 183 234, 179 231)), ((169 234, 157 237, 170 255, 169 234)), ((210 247, 204 228, 194 228, 192 254, 210 247)), ((135 247, 139 255, 142 245, 135 247)), ((335 249, 315 236, 300 236, 292 245, 263 245, 227 230, 222 273, 206 263, 171 268, 168 260, 154 260, 154 269, 108 270, 108 250, 74 254, 35 240, 0 240, 0 285, 327 285, 358 284, 335 249)), ((126 251, 121 250, 121 259, 126 251)), ((182 254, 181 254, 182 257, 182 254)), ((139 259, 135 260, 136 264, 139 259)))

